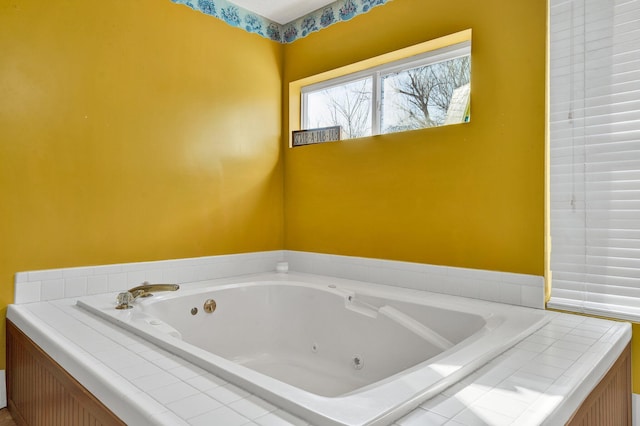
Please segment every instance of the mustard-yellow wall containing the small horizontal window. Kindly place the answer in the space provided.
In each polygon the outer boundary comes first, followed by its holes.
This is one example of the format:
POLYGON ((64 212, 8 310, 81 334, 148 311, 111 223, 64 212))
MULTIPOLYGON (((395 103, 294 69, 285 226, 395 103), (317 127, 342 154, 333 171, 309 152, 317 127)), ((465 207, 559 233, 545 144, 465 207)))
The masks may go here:
POLYGON ((469 124, 285 148, 287 249, 544 274, 545 1, 392 1, 287 45, 284 99, 468 28, 469 124))

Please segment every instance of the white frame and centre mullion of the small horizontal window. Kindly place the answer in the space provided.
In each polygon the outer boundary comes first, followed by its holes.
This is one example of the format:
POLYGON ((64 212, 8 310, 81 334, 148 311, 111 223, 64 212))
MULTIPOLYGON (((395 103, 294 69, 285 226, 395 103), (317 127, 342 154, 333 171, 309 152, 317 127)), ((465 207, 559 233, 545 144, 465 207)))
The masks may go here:
MULTIPOLYGON (((376 136, 380 134, 391 134, 398 132, 382 133, 380 128, 382 122, 382 79, 390 74, 399 73, 403 71, 409 71, 415 68, 425 67, 440 62, 453 60, 469 56, 471 58, 471 40, 465 40, 462 42, 446 45, 433 50, 429 50, 410 57, 385 62, 377 66, 363 69, 338 77, 322 80, 309 85, 302 86, 300 88, 300 124, 301 129, 308 130, 309 117, 308 117, 308 96, 311 93, 315 93, 321 90, 326 90, 334 87, 339 87, 354 83, 366 78, 372 79, 372 94, 371 94, 371 135, 376 136)), ((440 126, 437 126, 440 127, 440 126)), ((424 127, 427 128, 427 127, 424 127)), ((423 129, 424 129, 423 128, 423 129)))

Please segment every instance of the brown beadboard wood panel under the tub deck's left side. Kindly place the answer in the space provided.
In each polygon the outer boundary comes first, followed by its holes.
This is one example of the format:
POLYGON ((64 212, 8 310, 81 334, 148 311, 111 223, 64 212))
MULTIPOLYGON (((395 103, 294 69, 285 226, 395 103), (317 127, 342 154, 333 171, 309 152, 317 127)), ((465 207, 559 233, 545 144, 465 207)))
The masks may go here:
POLYGON ((125 425, 9 320, 7 399, 19 426, 125 425))

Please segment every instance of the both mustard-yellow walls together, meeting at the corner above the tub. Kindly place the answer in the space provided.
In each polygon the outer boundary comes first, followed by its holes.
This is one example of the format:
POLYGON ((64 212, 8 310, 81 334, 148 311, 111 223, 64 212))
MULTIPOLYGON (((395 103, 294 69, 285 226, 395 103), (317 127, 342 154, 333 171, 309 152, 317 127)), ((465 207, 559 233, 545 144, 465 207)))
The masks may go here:
POLYGON ((1 2, 0 310, 17 271, 281 248, 542 275, 545 14, 394 0, 282 48, 169 1, 1 2), (471 123, 284 148, 283 227, 281 90, 468 28, 471 123))

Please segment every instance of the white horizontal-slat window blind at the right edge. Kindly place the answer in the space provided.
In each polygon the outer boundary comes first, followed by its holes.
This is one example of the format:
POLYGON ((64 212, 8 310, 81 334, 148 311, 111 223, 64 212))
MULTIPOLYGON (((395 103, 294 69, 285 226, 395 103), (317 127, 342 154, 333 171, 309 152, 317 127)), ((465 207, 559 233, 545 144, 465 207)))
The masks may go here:
POLYGON ((640 0, 550 1, 550 307, 640 320, 640 0))

